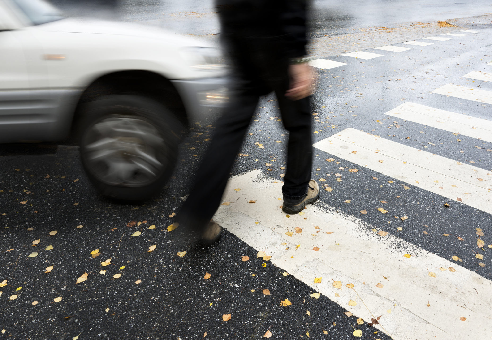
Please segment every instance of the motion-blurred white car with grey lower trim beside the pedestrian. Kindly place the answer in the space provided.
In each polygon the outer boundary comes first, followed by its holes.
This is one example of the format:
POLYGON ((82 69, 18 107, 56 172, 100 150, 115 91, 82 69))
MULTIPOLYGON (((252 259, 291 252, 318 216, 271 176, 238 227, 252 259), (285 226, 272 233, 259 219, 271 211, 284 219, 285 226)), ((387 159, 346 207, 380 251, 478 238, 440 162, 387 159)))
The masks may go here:
POLYGON ((0 0, 0 143, 75 135, 109 197, 144 200, 162 187, 183 125, 227 101, 226 72, 218 51, 192 38, 0 0))

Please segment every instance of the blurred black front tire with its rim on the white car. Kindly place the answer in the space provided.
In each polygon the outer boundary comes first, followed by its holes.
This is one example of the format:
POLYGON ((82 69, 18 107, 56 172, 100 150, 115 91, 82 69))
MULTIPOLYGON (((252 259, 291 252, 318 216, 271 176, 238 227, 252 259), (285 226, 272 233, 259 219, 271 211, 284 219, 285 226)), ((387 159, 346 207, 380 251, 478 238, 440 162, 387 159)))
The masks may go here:
POLYGON ((102 195, 143 201, 171 176, 180 123, 161 103, 141 95, 114 94, 78 109, 82 164, 102 195))

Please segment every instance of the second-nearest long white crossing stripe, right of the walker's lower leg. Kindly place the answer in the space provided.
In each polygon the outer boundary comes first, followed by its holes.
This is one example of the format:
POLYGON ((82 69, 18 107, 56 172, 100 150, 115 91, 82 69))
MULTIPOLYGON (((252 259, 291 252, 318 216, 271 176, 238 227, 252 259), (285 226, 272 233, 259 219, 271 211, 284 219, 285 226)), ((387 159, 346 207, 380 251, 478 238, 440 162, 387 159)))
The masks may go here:
POLYGON ((396 178, 454 201, 461 198, 461 203, 492 214, 492 176, 464 160, 458 162, 354 128, 313 146, 391 177, 384 181, 396 178))

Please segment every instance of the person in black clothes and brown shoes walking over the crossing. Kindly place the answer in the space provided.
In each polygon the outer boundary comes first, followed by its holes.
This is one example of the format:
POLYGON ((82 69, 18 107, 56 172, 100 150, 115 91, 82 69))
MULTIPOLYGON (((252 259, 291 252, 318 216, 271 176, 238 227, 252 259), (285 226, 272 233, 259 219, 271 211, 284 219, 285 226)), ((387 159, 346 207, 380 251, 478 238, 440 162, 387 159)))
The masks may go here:
POLYGON ((299 213, 319 197, 318 184, 311 180, 306 0, 218 0, 217 8, 222 43, 233 68, 231 97, 215 122, 194 187, 176 216, 206 244, 220 237, 222 228, 211 219, 261 95, 275 91, 282 123, 289 131, 282 210, 299 213))

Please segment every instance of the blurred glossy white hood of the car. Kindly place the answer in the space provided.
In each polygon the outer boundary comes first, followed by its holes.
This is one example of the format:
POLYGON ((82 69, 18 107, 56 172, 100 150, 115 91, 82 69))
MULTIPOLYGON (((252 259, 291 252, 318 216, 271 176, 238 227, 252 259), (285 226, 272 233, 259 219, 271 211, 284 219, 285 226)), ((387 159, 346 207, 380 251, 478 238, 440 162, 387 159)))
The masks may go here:
POLYGON ((180 35, 172 31, 166 31, 158 27, 134 23, 67 18, 34 27, 38 30, 52 32, 138 36, 166 41, 168 43, 173 43, 176 46, 213 47, 211 44, 196 38, 180 35))

